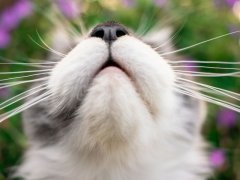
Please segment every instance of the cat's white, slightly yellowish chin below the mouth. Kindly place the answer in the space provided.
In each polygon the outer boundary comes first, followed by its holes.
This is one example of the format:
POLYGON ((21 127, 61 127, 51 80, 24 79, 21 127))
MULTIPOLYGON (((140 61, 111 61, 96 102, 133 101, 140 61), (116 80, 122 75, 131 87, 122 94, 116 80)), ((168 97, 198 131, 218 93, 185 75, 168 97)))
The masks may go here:
POLYGON ((141 127, 145 129, 153 122, 145 104, 122 70, 103 69, 77 110, 69 146, 77 145, 75 149, 94 154, 123 151, 142 134, 141 127))

